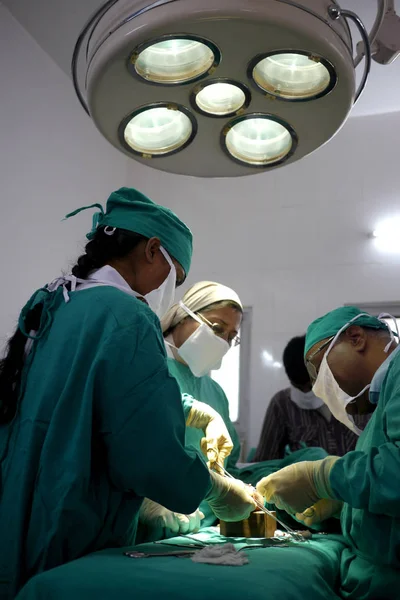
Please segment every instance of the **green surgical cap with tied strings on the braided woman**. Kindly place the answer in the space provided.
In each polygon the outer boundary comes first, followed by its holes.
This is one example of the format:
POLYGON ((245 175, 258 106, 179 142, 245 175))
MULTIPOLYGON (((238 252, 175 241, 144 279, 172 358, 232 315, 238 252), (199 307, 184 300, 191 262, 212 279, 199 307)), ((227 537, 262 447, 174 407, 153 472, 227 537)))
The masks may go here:
POLYGON ((111 194, 105 212, 101 204, 91 204, 74 210, 65 218, 73 217, 88 208, 98 208, 100 211, 93 215, 92 230, 86 236, 89 240, 98 227, 107 226, 127 229, 147 238, 157 237, 168 254, 182 265, 186 275, 189 273, 193 253, 192 233, 165 206, 155 204, 133 188, 121 188, 111 194))

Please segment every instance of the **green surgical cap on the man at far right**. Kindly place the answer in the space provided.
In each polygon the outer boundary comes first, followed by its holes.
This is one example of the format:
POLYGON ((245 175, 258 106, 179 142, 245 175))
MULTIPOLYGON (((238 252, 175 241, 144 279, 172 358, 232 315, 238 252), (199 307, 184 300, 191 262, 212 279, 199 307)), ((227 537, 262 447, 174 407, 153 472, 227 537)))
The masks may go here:
POLYGON ((355 306, 342 306, 311 323, 307 329, 304 355, 306 356, 309 350, 318 342, 335 336, 345 325, 353 325, 353 323, 350 323, 353 319, 355 319, 354 325, 360 327, 389 330, 386 323, 383 323, 377 317, 368 315, 355 306), (362 317, 355 319, 357 315, 362 315, 362 317))

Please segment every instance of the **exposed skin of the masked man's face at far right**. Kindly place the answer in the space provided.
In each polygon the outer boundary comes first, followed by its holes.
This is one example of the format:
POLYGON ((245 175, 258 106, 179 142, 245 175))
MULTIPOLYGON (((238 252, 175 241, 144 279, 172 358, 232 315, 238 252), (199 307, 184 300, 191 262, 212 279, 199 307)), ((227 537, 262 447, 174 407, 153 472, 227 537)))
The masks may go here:
MULTIPOLYGON (((306 359, 328 339, 320 340, 310 348, 306 359)), ((327 361, 333 376, 344 392, 350 396, 357 396, 371 383, 376 371, 397 347, 397 343, 393 342, 385 352, 389 341, 390 336, 384 331, 371 332, 358 325, 351 325, 343 332, 330 350, 327 361)), ((329 345, 312 358, 312 364, 317 372, 328 348, 329 345)), ((375 406, 369 402, 368 390, 346 407, 349 414, 366 414, 373 412, 374 409, 375 406)))

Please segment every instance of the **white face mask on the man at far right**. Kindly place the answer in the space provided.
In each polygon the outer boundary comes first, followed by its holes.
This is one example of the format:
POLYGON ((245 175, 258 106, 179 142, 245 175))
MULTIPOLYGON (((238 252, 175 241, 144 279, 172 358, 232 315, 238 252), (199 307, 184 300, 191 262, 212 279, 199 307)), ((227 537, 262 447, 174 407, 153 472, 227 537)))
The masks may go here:
MULTIPOLYGON (((343 425, 346 425, 346 427, 348 427, 349 429, 354 431, 354 433, 356 433, 357 435, 361 434, 361 430, 355 425, 353 417, 351 417, 347 413, 346 406, 348 404, 350 404, 351 402, 354 402, 360 396, 362 396, 364 394, 364 392, 366 392, 371 387, 371 384, 368 384, 367 386, 365 386, 365 388, 363 390, 361 390, 361 392, 359 392, 356 396, 349 396, 349 394, 346 394, 346 392, 344 392, 341 389, 341 387, 337 383, 335 377, 333 376, 333 373, 328 364, 328 354, 332 350, 334 344, 337 342, 342 331, 347 329, 349 327, 349 325, 351 325, 351 323, 353 323, 354 321, 356 321, 358 318, 360 318, 362 316, 366 316, 366 315, 365 314, 357 315, 349 323, 346 323, 346 325, 344 327, 342 327, 342 329, 340 329, 340 331, 336 334, 336 336, 332 340, 331 344, 329 345, 328 350, 325 352, 325 356, 322 359, 321 366, 319 368, 317 380, 313 386, 313 392, 315 393, 316 396, 318 396, 325 402, 325 404, 328 406, 328 408, 331 411, 331 413, 333 414, 333 416, 336 417, 336 419, 338 421, 343 423, 343 425)), ((367 316, 369 316, 369 315, 367 315, 367 316)), ((379 316, 379 318, 381 318, 381 315, 379 316)), ((394 336, 391 331, 390 331, 390 333, 391 333, 391 336, 390 336, 391 339, 390 339, 389 344, 385 348, 385 352, 389 351, 389 349, 394 341, 394 336)))

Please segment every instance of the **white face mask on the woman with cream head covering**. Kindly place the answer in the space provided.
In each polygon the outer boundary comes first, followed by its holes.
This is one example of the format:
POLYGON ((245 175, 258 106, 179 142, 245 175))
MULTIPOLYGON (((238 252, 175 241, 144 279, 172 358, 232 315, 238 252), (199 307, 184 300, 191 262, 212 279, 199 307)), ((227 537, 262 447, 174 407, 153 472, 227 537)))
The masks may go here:
POLYGON ((187 308, 183 302, 179 304, 192 319, 200 323, 200 327, 188 337, 180 348, 177 348, 177 352, 195 377, 203 377, 210 371, 220 368, 222 359, 230 346, 228 342, 215 335, 211 327, 187 308))

